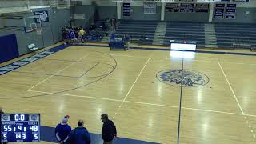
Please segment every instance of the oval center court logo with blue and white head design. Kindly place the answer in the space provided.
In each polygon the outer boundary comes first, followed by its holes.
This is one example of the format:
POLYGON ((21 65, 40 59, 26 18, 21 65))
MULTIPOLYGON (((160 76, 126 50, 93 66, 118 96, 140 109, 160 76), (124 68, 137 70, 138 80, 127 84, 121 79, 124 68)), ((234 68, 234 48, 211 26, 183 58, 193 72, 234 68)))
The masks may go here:
POLYGON ((209 82, 209 78, 194 70, 162 70, 157 74, 159 81, 174 86, 204 86, 209 82))

